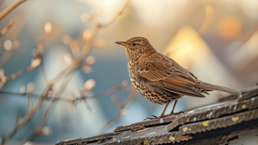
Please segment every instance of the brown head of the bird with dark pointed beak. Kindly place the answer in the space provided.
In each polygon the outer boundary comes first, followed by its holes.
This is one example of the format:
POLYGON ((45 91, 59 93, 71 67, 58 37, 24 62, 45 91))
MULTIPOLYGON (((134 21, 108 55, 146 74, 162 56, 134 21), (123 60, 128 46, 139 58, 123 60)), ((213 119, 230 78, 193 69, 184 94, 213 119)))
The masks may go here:
POLYGON ((117 41, 115 43, 125 47, 126 55, 130 61, 137 60, 143 53, 150 54, 156 52, 150 41, 145 37, 133 37, 125 42, 117 41))

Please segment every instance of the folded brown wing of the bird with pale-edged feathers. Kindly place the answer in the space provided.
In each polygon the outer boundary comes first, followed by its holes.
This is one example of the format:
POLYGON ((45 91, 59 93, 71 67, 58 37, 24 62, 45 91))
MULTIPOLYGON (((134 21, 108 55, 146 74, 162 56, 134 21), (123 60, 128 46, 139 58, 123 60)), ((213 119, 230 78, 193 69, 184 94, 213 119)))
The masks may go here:
POLYGON ((155 83, 173 93, 205 97, 193 87, 198 80, 194 79, 192 74, 184 73, 178 69, 171 60, 163 55, 148 56, 145 61, 138 62, 137 73, 142 80, 155 83))

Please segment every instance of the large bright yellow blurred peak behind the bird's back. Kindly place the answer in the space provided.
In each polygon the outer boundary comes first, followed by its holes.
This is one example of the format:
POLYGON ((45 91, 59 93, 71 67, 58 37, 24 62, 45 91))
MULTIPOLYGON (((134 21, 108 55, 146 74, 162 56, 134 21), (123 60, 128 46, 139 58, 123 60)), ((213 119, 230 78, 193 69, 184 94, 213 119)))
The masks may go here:
POLYGON ((195 29, 184 26, 171 39, 164 54, 173 58, 183 67, 189 69, 209 57, 207 44, 195 29), (194 62, 193 62, 194 61, 194 62))

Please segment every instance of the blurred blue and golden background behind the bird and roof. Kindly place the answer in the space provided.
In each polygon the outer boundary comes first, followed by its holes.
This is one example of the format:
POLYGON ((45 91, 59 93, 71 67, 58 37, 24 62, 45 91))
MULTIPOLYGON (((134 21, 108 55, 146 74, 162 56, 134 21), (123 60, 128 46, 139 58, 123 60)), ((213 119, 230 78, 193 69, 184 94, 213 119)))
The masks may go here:
MULTIPOLYGON (((0 0, 0 11, 14 2, 0 0)), ((164 106, 135 93, 114 43, 135 36, 202 81, 254 87, 257 12, 251 0, 25 1, 0 20, 0 137, 23 117, 8 144, 53 144, 159 116, 164 106)), ((210 94, 183 97, 175 112, 227 96, 210 94)))

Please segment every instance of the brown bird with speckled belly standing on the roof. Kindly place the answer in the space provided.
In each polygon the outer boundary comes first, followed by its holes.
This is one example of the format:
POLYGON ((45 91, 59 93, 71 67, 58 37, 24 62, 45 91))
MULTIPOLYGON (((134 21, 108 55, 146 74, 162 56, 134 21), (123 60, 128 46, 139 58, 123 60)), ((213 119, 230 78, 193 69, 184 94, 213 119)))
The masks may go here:
MULTIPOLYGON (((205 97, 208 91, 223 91, 239 96, 241 93, 229 88, 212 85, 198 80, 193 73, 180 66, 175 60, 157 52, 144 37, 133 37, 125 42, 115 42, 125 47, 128 72, 133 87, 143 97, 157 104, 166 104, 161 115, 167 117, 174 113, 176 102, 183 95, 205 97), (170 102, 174 106, 169 115, 164 115, 170 102)), ((174 113, 179 114, 179 113, 174 113)))

